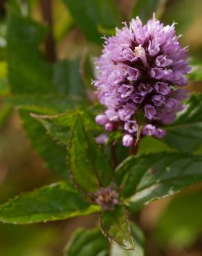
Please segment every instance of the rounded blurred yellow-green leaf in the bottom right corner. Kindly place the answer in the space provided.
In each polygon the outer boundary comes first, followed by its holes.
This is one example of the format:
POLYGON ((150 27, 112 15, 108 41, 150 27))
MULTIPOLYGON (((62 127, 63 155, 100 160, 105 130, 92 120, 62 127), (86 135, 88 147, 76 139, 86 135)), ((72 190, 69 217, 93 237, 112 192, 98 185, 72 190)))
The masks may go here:
POLYGON ((202 191, 192 190, 169 202, 156 223, 160 244, 175 248, 191 246, 202 230, 202 191))

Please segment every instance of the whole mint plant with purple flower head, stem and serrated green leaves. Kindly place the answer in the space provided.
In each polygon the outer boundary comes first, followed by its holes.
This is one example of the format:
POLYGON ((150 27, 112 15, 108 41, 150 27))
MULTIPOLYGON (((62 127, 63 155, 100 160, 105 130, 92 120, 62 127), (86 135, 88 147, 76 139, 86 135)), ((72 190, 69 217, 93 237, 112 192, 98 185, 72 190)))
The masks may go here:
MULTIPOLYGON (((109 31, 122 19, 113 1, 103 1, 113 14, 107 21, 97 6, 102 1, 79 1, 84 15, 78 15, 80 4, 64 0, 98 45, 96 24, 109 31), (89 4, 97 16, 87 12, 89 4)), ((151 16, 154 6, 145 2, 151 16)), ((98 212, 98 227, 77 230, 66 255, 144 255, 143 232, 132 214, 202 181, 202 95, 181 89, 187 77, 200 79, 200 68, 190 71, 174 24, 163 26, 153 17, 143 25, 136 18, 106 39, 95 77, 90 58, 82 60, 86 85, 80 59, 45 60, 39 44, 47 29, 24 12, 26 4, 8 5, 8 78, 5 73, 0 95, 9 111, 19 111, 33 147, 61 181, 10 199, 0 206, 0 221, 28 224, 98 212), (92 96, 91 79, 101 104, 92 96), (169 152, 140 154, 145 136, 162 140, 169 152)), ((138 1, 134 13, 142 11, 138 1)))

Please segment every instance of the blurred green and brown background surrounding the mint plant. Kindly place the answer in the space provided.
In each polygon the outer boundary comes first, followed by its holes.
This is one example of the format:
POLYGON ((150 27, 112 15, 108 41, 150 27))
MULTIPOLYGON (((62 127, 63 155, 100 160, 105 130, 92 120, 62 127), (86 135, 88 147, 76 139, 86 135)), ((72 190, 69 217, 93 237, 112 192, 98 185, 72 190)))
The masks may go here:
MULTIPOLYGON (((147 8, 138 9, 138 4, 144 0, 139 0, 139 3, 135 0, 114 0, 110 1, 110 6, 107 4, 109 2, 100 0, 96 9, 99 13, 97 20, 97 13, 93 9, 96 1, 19 1, 23 8, 22 12, 30 12, 33 19, 49 25, 50 34, 46 44, 40 46, 49 62, 64 58, 72 60, 82 56, 80 72, 83 82, 89 86, 89 91, 91 68, 87 65, 89 62, 86 62, 86 56, 91 60, 92 56, 100 54, 100 34, 113 34, 114 26, 121 26, 122 21, 128 21, 133 15, 140 15, 143 19, 147 17, 147 8), (82 3, 79 12, 71 8, 73 3, 82 3), (88 22, 91 21, 94 22, 93 33, 86 30, 88 22)), ((165 24, 172 24, 173 21, 178 23, 177 33, 183 34, 181 44, 190 45, 190 55, 196 62, 202 63, 202 1, 168 0, 160 3, 156 15, 160 16, 160 20, 165 24)), ((7 82, 7 4, 8 1, 0 1, 1 86, 7 82)), ((201 82, 192 82, 188 88, 190 91, 202 92, 201 82)), ((6 90, 5 86, 5 94, 6 90)), ((147 138, 140 145, 140 151, 145 150, 151 152, 169 149, 163 143, 147 138)), ((200 152, 202 154, 202 149, 200 152)), ((0 203, 15 194, 39 188, 56 180, 56 176, 49 172, 42 158, 30 145, 17 111, 9 104, 4 104, 0 98, 0 203)), ((145 232, 146 255, 202 255, 201 211, 202 185, 196 185, 177 196, 151 203, 140 213, 131 216, 145 232)), ((30 226, 0 224, 0 256, 64 255, 64 246, 72 232, 78 227, 95 226, 96 218, 95 215, 91 215, 30 226)))

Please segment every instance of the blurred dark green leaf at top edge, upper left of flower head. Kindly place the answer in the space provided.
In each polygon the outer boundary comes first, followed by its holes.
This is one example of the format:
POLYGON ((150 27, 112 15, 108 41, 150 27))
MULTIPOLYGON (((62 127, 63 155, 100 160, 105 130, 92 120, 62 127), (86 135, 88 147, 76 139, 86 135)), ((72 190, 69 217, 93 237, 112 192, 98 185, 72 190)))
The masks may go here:
POLYGON ((114 28, 122 21, 122 15, 113 0, 63 0, 75 23, 92 42, 100 44, 98 25, 114 28))

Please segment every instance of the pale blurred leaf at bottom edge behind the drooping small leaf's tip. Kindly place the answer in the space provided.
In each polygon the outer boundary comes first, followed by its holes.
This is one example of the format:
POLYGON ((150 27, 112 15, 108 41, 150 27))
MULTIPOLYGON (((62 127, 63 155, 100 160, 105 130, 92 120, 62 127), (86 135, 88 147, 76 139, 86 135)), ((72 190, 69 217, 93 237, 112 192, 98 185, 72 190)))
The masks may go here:
POLYGON ((111 254, 110 256, 144 256, 144 245, 145 237, 143 231, 140 230, 135 223, 131 223, 131 235, 134 239, 135 250, 124 250, 120 248, 117 244, 111 245, 111 254))

